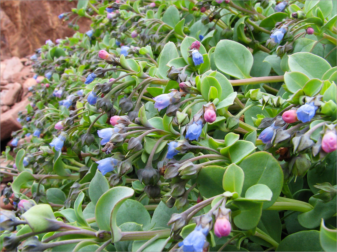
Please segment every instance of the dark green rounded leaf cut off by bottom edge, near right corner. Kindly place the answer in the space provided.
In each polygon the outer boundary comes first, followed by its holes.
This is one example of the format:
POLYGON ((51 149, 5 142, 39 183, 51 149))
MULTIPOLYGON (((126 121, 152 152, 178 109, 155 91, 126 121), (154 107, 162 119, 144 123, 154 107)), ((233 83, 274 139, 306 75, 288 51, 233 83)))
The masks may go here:
POLYGON ((317 230, 300 231, 286 236, 275 251, 322 251, 317 230))

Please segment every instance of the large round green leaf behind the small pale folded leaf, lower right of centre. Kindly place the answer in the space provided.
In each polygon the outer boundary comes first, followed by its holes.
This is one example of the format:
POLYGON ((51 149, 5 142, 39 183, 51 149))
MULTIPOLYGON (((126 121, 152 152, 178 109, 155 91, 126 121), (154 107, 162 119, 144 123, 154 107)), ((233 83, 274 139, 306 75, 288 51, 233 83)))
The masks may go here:
POLYGON ((252 185, 265 184, 271 189, 273 196, 271 201, 263 203, 263 208, 272 206, 283 187, 283 171, 279 162, 270 153, 259 151, 243 159, 239 166, 245 174, 242 193, 246 193, 252 185))

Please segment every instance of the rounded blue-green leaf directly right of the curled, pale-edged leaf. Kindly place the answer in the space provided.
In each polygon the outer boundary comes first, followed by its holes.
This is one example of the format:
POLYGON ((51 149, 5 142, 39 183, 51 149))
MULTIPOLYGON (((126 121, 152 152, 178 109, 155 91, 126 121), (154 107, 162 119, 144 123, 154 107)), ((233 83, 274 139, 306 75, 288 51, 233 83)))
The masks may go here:
POLYGON ((117 226, 125 222, 135 222, 146 226, 151 217, 146 208, 138 201, 127 199, 118 209, 116 215, 117 226))

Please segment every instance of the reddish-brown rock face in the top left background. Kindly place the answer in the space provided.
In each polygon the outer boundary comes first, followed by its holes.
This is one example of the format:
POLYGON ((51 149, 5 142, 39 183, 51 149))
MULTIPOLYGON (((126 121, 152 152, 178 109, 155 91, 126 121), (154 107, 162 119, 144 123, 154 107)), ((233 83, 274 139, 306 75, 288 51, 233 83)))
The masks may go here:
MULTIPOLYGON (((70 12, 76 4, 77 1, 1 1, 2 59, 30 55, 47 39, 55 42, 58 38, 71 37, 75 31, 68 28, 69 21, 60 20, 58 15, 70 12)), ((80 32, 86 32, 89 30, 90 20, 81 17, 78 25, 80 32)))

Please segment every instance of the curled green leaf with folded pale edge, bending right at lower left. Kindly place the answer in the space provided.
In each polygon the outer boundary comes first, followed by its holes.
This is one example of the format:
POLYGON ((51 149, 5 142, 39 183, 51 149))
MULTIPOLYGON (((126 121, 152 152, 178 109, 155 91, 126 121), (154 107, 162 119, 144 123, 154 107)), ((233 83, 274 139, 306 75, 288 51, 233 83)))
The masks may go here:
POLYGON ((96 223, 101 230, 112 230, 112 241, 121 239, 120 229, 116 224, 116 216, 123 202, 133 195, 132 188, 117 186, 104 192, 95 207, 96 223))

